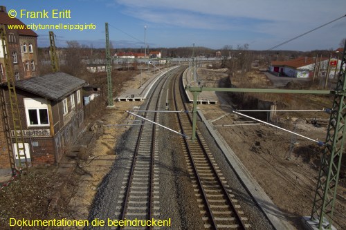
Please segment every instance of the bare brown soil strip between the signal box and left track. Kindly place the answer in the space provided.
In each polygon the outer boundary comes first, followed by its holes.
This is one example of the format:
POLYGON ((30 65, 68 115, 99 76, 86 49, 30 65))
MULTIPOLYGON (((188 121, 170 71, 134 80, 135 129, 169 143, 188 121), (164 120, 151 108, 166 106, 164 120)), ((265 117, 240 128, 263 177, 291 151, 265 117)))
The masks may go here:
MULTIPOLYGON (((157 72, 157 71, 156 71, 157 72)), ((140 86, 138 70, 113 72, 113 97, 120 95, 127 88, 140 86)), ((149 74, 152 75, 152 72, 149 74)), ((89 76, 90 78, 91 76, 89 76)), ((149 78, 143 73, 143 82, 149 78)), ((107 87, 104 73, 93 75, 91 84, 107 87)), ((107 92, 107 90, 102 90, 107 92)), ((107 104, 106 95, 101 95, 101 103, 107 104)), ((114 108, 96 111, 85 121, 96 129, 87 130, 84 135, 95 132, 95 141, 80 157, 70 159, 75 168, 73 173, 64 172, 58 166, 32 168, 30 173, 21 176, 4 189, 0 189, 0 229, 9 229, 9 218, 26 218, 27 220, 51 220, 67 218, 69 220, 87 220, 89 207, 93 201, 98 184, 109 172, 116 159, 115 146, 118 137, 127 127, 106 127, 107 124, 126 124, 127 113, 133 106, 142 102, 117 102, 114 108), (58 172, 62 172, 58 173, 58 172), (28 201, 28 198, 30 201, 28 201)), ((81 135, 80 139, 83 139, 81 135)), ((61 229, 61 228, 60 228, 61 229)))

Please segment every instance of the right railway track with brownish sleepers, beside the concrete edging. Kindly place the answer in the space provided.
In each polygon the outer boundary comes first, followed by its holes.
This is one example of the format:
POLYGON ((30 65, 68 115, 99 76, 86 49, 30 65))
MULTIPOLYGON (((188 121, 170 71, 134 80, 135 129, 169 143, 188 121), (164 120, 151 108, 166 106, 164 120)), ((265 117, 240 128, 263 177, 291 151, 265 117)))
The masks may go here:
MULTIPOLYGON (((179 77, 174 80, 175 109, 188 111, 179 77)), ((181 133, 191 137, 190 115, 178 113, 177 122, 181 133)), ((233 195, 201 133, 197 130, 197 140, 194 142, 181 138, 181 144, 205 229, 250 229, 251 225, 247 223, 248 219, 239 201, 233 195)))

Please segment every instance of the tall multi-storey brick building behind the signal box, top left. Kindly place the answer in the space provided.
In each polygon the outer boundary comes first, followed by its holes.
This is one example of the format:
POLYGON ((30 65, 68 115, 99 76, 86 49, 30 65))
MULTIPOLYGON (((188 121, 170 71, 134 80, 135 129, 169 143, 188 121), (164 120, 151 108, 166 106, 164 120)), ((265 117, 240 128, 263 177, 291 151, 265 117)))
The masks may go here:
MULTIPOLYGON (((0 6, 1 25, 23 25, 19 19, 8 17, 5 6, 0 6)), ((10 30, 6 28, 8 54, 11 59, 15 79, 28 79, 39 75, 37 61, 37 34, 33 30, 10 30)), ((6 82, 6 70, 3 59, 3 46, 0 41, 0 83, 6 82)))

